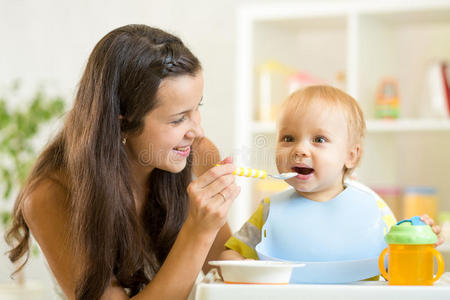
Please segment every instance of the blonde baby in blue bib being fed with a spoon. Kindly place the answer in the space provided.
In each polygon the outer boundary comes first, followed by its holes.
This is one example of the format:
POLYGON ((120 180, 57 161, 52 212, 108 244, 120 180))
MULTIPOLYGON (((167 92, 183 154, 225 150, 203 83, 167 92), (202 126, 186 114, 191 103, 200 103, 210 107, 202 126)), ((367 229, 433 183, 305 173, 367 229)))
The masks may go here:
POLYGON ((276 164, 298 173, 286 180, 293 189, 264 199, 221 258, 258 259, 257 251, 290 261, 377 258, 396 220, 377 194, 347 179, 364 133, 361 108, 345 92, 322 85, 291 94, 277 121, 276 164))

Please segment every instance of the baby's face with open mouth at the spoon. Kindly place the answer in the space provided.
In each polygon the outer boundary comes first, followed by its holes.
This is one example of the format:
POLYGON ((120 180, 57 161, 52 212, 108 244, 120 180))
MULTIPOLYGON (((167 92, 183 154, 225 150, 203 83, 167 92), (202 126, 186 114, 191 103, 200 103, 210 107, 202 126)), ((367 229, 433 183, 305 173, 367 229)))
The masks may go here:
POLYGON ((340 108, 311 104, 296 112, 285 108, 277 124, 278 171, 297 172, 286 180, 298 193, 328 201, 343 190, 344 166, 353 167, 358 152, 349 143, 347 122, 340 108))

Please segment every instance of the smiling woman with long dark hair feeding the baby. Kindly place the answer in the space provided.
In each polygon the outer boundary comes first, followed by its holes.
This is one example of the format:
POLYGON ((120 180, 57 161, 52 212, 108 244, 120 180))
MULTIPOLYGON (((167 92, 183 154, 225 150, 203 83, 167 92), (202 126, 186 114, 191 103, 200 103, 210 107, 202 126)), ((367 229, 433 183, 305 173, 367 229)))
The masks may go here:
POLYGON ((186 299, 230 236, 240 192, 231 159, 214 166, 202 138, 202 95, 200 63, 177 37, 107 34, 18 196, 10 259, 28 255, 31 232, 69 299, 186 299))

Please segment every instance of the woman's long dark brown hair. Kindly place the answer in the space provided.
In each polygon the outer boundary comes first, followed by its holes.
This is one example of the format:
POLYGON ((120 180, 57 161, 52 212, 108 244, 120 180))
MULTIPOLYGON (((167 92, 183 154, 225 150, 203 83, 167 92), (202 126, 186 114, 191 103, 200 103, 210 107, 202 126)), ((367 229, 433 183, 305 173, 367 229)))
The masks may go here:
POLYGON ((123 26, 100 40, 64 128, 41 153, 16 200, 6 235, 11 261, 29 254, 24 199, 42 179, 64 171, 69 182, 69 238, 80 266, 76 299, 100 298, 112 276, 129 296, 153 278, 187 215, 191 159, 178 174, 152 171, 149 199, 139 218, 121 136, 142 130, 143 117, 157 105, 162 79, 194 76, 200 69, 179 38, 156 28, 123 26))

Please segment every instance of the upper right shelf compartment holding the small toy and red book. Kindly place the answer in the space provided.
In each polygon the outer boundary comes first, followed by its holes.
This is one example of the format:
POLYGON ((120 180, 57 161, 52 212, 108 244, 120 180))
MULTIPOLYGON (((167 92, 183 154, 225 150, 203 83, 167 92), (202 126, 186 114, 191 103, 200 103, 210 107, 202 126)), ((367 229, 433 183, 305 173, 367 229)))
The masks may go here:
POLYGON ((427 72, 432 63, 450 62, 450 7, 422 11, 364 12, 358 15, 357 94, 366 116, 375 115, 380 82, 398 82, 400 116, 426 115, 427 72), (370 38, 369 38, 370 37, 370 38))

